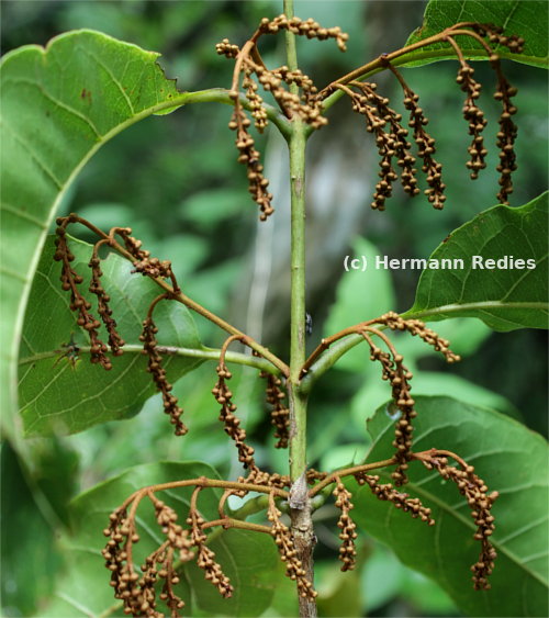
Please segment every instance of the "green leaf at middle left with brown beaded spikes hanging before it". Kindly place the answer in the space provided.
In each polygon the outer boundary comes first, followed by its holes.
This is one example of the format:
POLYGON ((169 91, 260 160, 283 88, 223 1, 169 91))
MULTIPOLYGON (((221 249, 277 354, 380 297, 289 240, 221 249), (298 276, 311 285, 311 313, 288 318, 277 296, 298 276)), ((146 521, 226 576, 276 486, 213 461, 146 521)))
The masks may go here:
MULTIPOLYGON (((80 286, 85 293, 91 277, 88 262, 92 247, 75 238, 69 238, 69 246, 75 255, 74 268, 85 277, 80 286)), ((98 423, 127 418, 137 414, 156 392, 138 338, 148 306, 158 296, 158 286, 148 278, 132 273, 132 263, 114 254, 103 260, 101 279, 111 296, 119 332, 126 341, 124 355, 113 358, 112 369, 105 371, 89 361, 89 339, 68 306, 70 294, 60 289, 60 263, 54 261, 54 251, 51 236, 30 294, 20 350, 20 414, 26 436, 75 434, 98 423), (71 340, 80 348, 76 363, 64 356, 64 346, 71 340)), ((93 295, 87 296, 92 302, 91 311, 97 313, 93 295)), ((201 349, 193 318, 180 303, 160 303, 155 310, 155 322, 160 345, 190 351, 201 349)), ((100 337, 107 341, 104 328, 100 337)), ((176 381, 201 362, 199 358, 167 355, 164 366, 168 379, 176 381)), ((158 407, 163 416, 161 406, 158 407)))

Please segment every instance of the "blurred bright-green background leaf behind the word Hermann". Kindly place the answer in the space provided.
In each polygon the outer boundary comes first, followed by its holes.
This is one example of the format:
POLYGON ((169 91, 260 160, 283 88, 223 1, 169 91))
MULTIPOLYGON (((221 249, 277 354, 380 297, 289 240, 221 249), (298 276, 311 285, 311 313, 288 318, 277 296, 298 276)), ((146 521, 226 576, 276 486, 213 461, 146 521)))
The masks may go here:
MULTIPOLYGON (((367 263, 376 261, 379 250, 366 238, 357 237, 351 245, 350 256, 365 257, 367 263)), ((343 274, 336 291, 336 302, 329 310, 324 325, 324 335, 334 335, 338 330, 359 324, 371 317, 391 311, 394 297, 391 274, 386 269, 349 270, 343 274), (361 291, 361 293, 357 293, 361 291)), ((338 369, 360 371, 365 364, 363 350, 352 350, 341 357, 338 369)))

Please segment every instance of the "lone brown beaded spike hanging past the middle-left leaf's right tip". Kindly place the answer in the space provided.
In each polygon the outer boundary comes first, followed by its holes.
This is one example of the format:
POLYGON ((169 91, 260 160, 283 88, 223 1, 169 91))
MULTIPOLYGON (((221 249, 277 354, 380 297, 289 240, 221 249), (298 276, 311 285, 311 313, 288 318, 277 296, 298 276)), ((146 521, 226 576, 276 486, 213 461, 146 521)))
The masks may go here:
POLYGON ((166 369, 163 367, 163 356, 158 351, 158 341, 156 339, 158 327, 153 319, 153 312, 156 305, 166 297, 167 294, 160 294, 150 303, 147 317, 143 321, 143 332, 139 335, 139 340, 143 341, 143 353, 148 357, 147 371, 153 375, 156 387, 163 394, 164 412, 170 417, 176 436, 184 436, 188 428, 181 420, 183 411, 178 405, 178 398, 171 394, 173 386, 168 382, 166 369))

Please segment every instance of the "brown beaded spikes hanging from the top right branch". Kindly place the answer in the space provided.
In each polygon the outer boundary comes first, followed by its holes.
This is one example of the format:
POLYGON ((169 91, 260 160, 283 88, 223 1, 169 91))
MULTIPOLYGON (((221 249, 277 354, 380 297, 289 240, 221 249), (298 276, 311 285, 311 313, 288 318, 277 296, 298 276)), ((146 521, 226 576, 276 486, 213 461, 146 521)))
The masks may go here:
MULTIPOLYGON (((516 106, 511 102, 511 98, 516 94, 516 88, 509 86, 505 79, 500 64, 500 56, 492 46, 504 46, 513 53, 523 50, 524 41, 518 36, 503 36, 502 29, 490 24, 460 23, 456 24, 440 34, 440 40, 449 43, 459 60, 457 82, 461 90, 466 92, 463 104, 463 116, 469 124, 469 134, 472 137, 468 148, 469 160, 467 167, 471 171, 471 178, 475 179, 481 169, 486 167, 485 157, 488 154, 484 147, 482 132, 486 125, 484 112, 478 105, 481 93, 481 85, 475 81, 474 69, 467 61, 464 54, 458 44, 457 37, 472 37, 485 49, 486 56, 492 68, 497 76, 497 90, 494 98, 503 103, 503 112, 500 117, 500 131, 497 133, 497 146, 500 148, 500 165, 497 170, 501 172, 501 190, 497 198, 501 202, 507 203, 507 196, 513 191, 511 180, 512 172, 516 169, 516 157, 514 153, 514 141, 517 127, 512 121, 516 113, 516 106)), ((461 38, 460 38, 461 40, 461 38)), ((436 209, 441 209, 446 196, 444 195, 445 183, 441 180, 442 166, 437 162, 433 155, 436 151, 435 139, 428 135, 424 126, 427 119, 422 108, 418 106, 418 95, 404 81, 402 75, 391 65, 390 57, 395 55, 382 54, 378 63, 383 68, 389 68, 399 79, 404 90, 404 106, 410 111, 408 126, 413 128, 414 141, 417 145, 418 157, 423 159, 422 170, 426 173, 428 189, 425 191, 428 201, 436 209)), ((404 190, 410 195, 418 193, 416 187, 416 171, 413 167, 414 159, 407 153, 408 145, 405 141, 405 130, 401 125, 401 119, 389 106, 389 100, 372 94, 374 85, 351 80, 356 75, 352 71, 348 76, 332 82, 318 95, 318 99, 326 98, 335 89, 343 90, 352 100, 352 109, 365 115, 367 119, 367 130, 376 135, 376 144, 380 155, 380 177, 381 181, 376 187, 372 207, 383 210, 385 200, 391 196, 392 183, 396 180, 396 172, 391 165, 393 157, 397 158, 402 167, 401 181, 404 190), (361 91, 359 95, 355 90, 361 91)))

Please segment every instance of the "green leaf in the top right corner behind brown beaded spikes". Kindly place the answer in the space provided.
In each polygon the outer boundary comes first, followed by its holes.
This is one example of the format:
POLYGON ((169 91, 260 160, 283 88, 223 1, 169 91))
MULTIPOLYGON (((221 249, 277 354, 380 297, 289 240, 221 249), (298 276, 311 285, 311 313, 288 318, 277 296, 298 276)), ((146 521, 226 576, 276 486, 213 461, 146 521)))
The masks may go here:
MULTIPOLYGON (((525 40, 524 52, 512 54, 506 47, 496 48, 503 58, 525 65, 547 68, 548 3, 545 0, 430 0, 423 25, 406 42, 412 45, 460 22, 500 25, 505 35, 516 34, 525 40)), ((484 48, 470 36, 460 36, 459 44, 467 58, 486 59, 484 48)), ((419 66, 456 58, 448 43, 436 43, 403 56, 399 64, 419 66)))

